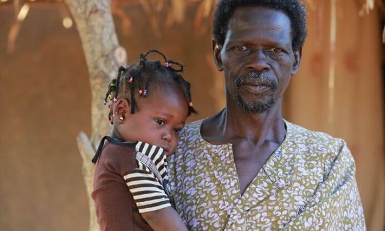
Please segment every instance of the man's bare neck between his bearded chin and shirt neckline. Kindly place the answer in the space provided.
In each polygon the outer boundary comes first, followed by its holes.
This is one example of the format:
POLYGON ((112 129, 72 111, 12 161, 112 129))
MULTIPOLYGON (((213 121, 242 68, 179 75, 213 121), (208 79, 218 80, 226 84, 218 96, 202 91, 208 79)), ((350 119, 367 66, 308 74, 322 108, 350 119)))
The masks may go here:
POLYGON ((255 145, 270 141, 282 143, 286 136, 281 114, 281 99, 263 113, 246 112, 234 101, 218 114, 203 122, 203 139, 213 144, 250 142, 255 145))

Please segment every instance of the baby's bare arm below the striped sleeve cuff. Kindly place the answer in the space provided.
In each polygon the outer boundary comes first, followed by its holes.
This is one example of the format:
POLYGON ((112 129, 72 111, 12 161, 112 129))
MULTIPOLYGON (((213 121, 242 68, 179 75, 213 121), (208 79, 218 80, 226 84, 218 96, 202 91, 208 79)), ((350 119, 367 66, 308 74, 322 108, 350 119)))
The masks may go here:
POLYGON ((177 211, 172 207, 142 213, 142 217, 155 231, 187 231, 177 211))

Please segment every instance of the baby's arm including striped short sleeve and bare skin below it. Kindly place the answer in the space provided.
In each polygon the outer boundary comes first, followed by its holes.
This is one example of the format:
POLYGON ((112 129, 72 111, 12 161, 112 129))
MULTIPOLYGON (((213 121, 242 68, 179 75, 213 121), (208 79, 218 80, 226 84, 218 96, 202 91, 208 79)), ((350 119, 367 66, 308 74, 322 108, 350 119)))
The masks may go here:
POLYGON ((140 164, 140 168, 130 171, 124 179, 139 213, 153 230, 188 230, 177 211, 171 207, 163 185, 148 168, 140 164))

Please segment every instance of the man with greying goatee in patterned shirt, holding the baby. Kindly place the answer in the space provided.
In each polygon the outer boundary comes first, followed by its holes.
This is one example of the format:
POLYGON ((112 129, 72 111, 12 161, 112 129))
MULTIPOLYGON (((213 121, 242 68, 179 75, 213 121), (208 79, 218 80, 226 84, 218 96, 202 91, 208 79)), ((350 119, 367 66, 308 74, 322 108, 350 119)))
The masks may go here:
POLYGON ((171 190, 190 230, 365 230, 345 142, 283 120, 301 61, 299 0, 221 0, 214 60, 226 107, 183 129, 171 190))

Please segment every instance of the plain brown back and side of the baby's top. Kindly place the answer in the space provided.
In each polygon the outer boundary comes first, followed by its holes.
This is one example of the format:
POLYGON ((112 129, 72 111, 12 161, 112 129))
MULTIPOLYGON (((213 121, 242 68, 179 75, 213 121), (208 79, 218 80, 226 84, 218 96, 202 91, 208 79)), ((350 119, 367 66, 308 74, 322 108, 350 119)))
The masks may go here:
POLYGON ((136 167, 133 165, 135 161, 131 160, 131 155, 127 152, 117 153, 125 150, 111 149, 111 146, 114 145, 105 145, 95 165, 92 198, 95 201, 98 223, 106 231, 132 230, 132 196, 122 172, 136 167), (122 166, 126 166, 125 170, 122 166))

